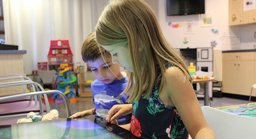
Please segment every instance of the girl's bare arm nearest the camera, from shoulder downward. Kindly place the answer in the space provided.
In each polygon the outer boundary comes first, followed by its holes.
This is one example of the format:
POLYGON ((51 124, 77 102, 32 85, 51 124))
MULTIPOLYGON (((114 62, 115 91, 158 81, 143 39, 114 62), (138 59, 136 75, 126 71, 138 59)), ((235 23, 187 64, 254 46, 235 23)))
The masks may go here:
POLYGON ((178 67, 167 69, 162 92, 164 94, 160 95, 169 97, 169 103, 177 108, 192 138, 216 139, 203 116, 191 82, 184 82, 184 77, 184 72, 178 67))

